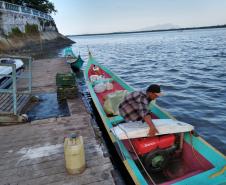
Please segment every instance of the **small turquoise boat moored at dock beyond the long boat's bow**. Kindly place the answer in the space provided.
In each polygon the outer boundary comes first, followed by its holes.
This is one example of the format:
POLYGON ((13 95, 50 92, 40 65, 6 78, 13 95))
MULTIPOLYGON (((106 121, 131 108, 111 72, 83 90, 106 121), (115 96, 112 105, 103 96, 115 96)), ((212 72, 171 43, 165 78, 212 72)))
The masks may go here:
POLYGON ((81 69, 84 61, 80 55, 76 56, 74 54, 71 47, 68 47, 64 50, 64 56, 66 57, 67 63, 70 64, 74 72, 78 72, 81 69))

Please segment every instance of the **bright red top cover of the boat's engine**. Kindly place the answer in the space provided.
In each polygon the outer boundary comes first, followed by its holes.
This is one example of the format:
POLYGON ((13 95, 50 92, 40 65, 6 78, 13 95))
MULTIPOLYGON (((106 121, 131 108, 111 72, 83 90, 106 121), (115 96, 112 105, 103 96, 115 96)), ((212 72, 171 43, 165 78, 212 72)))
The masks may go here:
POLYGON ((172 146, 174 142, 175 136, 173 134, 132 140, 132 144, 139 155, 144 155, 156 148, 168 148, 172 146))

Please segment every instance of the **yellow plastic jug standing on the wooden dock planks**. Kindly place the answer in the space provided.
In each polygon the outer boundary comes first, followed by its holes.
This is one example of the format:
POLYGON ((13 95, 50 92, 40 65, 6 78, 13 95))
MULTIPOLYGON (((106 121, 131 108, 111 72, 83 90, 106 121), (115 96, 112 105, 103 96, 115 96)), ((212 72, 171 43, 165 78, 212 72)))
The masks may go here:
POLYGON ((82 136, 72 135, 64 140, 65 166, 69 174, 82 173, 85 170, 85 152, 82 136))

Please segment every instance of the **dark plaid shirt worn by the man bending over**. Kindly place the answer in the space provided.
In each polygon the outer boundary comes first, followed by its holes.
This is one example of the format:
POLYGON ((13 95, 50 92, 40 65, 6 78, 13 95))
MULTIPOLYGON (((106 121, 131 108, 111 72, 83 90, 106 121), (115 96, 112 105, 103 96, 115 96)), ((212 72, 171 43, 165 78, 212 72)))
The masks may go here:
POLYGON ((148 115, 148 99, 146 92, 136 91, 127 95, 119 105, 119 113, 126 121, 140 121, 148 115))

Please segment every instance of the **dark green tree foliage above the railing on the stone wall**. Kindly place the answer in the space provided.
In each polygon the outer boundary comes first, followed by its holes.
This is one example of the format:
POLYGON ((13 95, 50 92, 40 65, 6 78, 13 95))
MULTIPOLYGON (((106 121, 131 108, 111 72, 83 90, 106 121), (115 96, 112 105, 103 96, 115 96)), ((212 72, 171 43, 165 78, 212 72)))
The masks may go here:
POLYGON ((8 3, 18 4, 22 6, 27 6, 29 8, 34 8, 44 13, 57 12, 54 4, 49 0, 4 0, 8 3))

